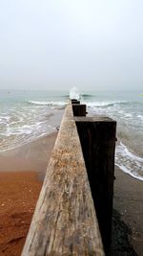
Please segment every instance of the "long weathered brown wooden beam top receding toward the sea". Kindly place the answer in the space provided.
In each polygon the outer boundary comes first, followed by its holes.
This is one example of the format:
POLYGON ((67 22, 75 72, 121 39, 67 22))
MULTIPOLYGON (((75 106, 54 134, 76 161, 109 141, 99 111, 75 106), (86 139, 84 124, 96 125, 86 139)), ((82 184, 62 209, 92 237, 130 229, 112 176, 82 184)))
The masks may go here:
POLYGON ((65 110, 22 256, 104 255, 81 145, 65 110))

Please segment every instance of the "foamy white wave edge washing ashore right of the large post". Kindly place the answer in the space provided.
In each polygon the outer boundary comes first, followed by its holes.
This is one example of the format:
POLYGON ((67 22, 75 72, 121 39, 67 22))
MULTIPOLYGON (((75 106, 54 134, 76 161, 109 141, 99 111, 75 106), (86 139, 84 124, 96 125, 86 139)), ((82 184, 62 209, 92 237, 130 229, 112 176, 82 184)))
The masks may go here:
POLYGON ((143 158, 135 155, 133 152, 120 142, 116 147, 115 165, 118 166, 124 173, 143 180, 143 158))

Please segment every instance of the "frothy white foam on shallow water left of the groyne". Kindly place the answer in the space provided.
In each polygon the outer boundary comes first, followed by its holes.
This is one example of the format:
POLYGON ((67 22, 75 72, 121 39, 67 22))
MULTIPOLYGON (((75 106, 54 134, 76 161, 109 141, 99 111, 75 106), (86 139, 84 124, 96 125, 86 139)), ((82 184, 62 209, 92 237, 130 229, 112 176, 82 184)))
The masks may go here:
POLYGON ((63 110, 22 105, 0 123, 0 151, 7 151, 49 134, 60 125, 63 110), (17 121, 15 121, 17 120, 17 121))

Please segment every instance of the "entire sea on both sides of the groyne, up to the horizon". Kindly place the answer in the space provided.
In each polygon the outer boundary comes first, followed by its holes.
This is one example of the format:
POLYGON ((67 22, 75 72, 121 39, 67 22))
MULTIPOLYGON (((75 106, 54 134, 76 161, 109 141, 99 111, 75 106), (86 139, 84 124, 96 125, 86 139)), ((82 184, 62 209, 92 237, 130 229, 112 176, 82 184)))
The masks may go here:
POLYGON ((72 97, 87 104, 89 115, 117 121, 115 165, 143 180, 143 95, 139 91, 0 91, 0 151, 55 131, 72 97))

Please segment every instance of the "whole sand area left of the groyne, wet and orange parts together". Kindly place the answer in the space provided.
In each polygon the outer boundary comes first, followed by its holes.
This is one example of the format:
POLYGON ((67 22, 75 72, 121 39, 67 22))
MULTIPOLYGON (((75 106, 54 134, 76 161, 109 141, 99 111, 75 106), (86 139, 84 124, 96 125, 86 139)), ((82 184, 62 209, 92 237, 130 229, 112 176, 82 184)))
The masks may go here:
POLYGON ((21 255, 56 135, 0 154, 0 256, 21 255))

